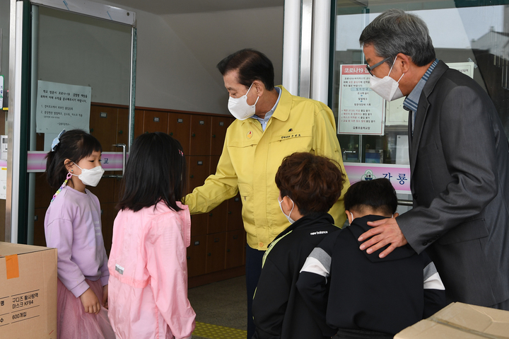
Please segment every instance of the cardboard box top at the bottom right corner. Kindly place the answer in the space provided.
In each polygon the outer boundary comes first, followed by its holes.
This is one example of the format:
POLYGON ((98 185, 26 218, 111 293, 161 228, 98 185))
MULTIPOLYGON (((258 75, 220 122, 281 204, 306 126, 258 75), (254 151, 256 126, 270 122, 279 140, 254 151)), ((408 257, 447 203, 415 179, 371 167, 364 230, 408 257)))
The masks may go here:
POLYGON ((455 302, 394 336, 394 339, 428 338, 509 338, 509 311, 455 302))

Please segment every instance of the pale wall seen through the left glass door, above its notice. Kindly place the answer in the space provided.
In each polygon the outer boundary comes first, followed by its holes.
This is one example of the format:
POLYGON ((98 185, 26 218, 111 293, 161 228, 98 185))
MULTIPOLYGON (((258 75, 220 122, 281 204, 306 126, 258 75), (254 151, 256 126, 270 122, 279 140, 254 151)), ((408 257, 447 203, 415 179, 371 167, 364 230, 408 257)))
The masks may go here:
POLYGON ((38 18, 38 80, 90 86, 93 102, 129 105, 129 26, 45 7, 38 18))

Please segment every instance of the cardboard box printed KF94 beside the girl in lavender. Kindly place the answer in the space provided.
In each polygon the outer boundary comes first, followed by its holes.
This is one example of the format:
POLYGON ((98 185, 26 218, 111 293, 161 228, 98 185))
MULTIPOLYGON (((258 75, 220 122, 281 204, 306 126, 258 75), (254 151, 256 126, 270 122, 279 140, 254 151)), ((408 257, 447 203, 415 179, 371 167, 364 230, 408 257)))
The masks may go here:
POLYGON ((0 338, 57 338, 57 249, 0 242, 0 338))

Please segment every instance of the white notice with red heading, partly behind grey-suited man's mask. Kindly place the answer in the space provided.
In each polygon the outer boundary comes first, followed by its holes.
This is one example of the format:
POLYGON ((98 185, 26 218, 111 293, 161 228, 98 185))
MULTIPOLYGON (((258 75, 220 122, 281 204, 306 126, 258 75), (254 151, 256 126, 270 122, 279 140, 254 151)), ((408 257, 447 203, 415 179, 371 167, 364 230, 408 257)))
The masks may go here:
POLYGON ((384 100, 371 90, 365 65, 342 64, 338 134, 383 135, 384 119, 384 100))

